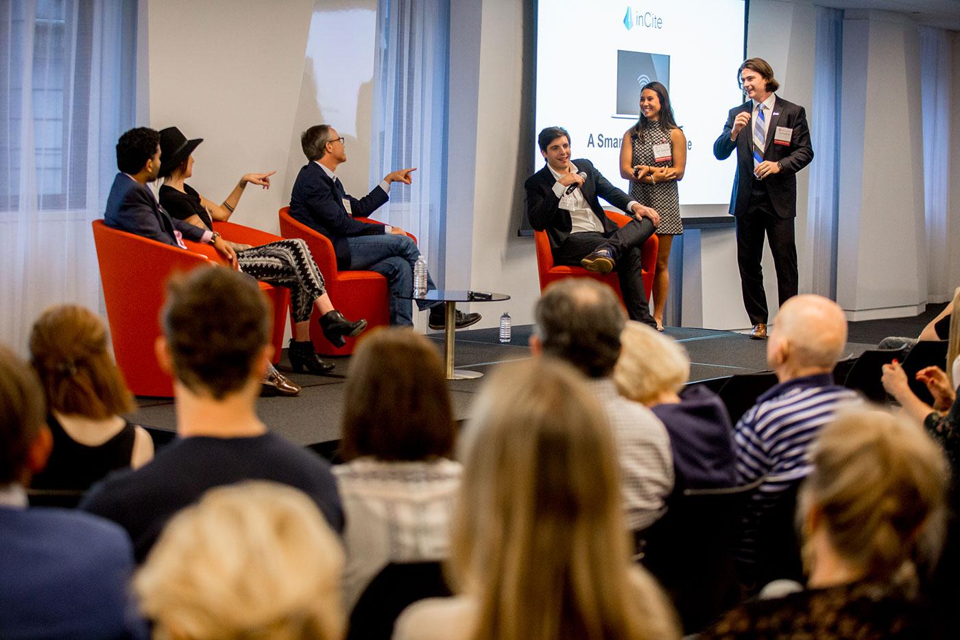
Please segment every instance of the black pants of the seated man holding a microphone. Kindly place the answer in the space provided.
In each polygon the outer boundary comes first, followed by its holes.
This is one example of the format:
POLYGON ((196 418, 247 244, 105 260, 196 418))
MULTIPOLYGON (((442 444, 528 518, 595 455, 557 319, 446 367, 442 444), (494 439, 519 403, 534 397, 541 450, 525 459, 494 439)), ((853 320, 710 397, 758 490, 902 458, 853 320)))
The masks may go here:
POLYGON ((657 321, 650 315, 643 279, 640 277, 640 247, 653 234, 654 225, 649 218, 631 220, 615 232, 569 234, 564 243, 553 250, 553 259, 557 264, 579 266, 580 260, 597 248, 603 245, 610 247, 627 314, 632 320, 656 327, 657 321))

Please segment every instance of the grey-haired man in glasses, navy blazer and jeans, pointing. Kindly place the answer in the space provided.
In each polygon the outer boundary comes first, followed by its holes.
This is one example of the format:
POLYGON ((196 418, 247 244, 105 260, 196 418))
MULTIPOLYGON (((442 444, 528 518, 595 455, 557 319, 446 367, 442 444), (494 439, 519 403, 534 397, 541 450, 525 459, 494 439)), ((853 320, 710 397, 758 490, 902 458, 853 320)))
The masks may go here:
MULTIPOLYGON (((413 305, 397 296, 414 290, 414 265, 420 258, 417 243, 399 227, 354 220, 366 217, 390 199, 390 185, 410 185, 416 168, 387 174, 363 198, 348 195, 334 172, 347 161, 344 138, 329 125, 315 125, 300 135, 308 162, 300 169, 290 195, 290 215, 324 234, 333 243, 340 269, 370 270, 382 274, 390 287, 390 324, 412 325, 413 305)), ((427 289, 437 288, 427 274, 427 289)), ((430 329, 443 329, 443 303, 418 300, 422 310, 430 309, 430 329)), ((462 329, 480 320, 479 313, 457 311, 456 327, 462 329)))

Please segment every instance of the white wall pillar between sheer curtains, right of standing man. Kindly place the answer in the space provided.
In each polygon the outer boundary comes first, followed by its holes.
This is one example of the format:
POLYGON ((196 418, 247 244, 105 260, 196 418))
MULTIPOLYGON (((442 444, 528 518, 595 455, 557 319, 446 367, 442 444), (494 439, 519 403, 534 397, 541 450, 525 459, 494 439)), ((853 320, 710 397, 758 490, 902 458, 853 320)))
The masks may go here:
POLYGON ((837 302, 851 320, 925 307, 920 64, 909 18, 845 13, 837 302))

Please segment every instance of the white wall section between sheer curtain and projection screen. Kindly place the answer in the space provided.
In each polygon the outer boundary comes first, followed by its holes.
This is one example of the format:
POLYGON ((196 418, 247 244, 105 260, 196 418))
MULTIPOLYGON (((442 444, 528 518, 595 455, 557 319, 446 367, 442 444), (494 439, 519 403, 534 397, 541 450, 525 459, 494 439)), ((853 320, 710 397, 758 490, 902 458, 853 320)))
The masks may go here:
MULTIPOLYGON (((523 76, 525 3, 452 0, 446 285, 513 296, 475 304, 478 327, 508 311, 533 322, 540 297, 532 237, 517 237, 532 173, 532 79, 523 76)), ((532 52, 530 53, 532 55, 532 52)))

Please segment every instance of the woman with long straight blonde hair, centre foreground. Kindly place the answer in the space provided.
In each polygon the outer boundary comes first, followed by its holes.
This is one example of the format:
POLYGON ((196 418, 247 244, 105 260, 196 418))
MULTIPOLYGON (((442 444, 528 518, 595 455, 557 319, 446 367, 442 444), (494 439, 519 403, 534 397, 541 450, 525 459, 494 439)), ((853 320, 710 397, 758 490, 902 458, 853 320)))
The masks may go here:
POLYGON ((460 595, 414 604, 395 638, 678 636, 660 588, 631 562, 612 431, 579 374, 549 358, 500 367, 460 451, 460 595))

